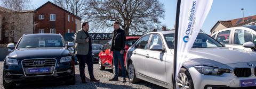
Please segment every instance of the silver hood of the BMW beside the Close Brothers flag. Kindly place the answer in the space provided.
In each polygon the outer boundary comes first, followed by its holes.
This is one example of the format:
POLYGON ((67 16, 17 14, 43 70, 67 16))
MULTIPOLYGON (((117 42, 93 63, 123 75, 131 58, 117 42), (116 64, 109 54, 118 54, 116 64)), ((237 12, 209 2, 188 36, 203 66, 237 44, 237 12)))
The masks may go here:
POLYGON ((209 66, 254 63, 256 52, 227 47, 193 48, 187 58, 192 60, 188 61, 189 63, 209 66))

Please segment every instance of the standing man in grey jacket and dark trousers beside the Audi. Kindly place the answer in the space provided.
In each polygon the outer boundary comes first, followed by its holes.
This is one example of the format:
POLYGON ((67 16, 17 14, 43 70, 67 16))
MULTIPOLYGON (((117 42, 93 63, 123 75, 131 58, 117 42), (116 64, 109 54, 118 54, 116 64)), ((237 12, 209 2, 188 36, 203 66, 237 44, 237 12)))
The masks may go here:
POLYGON ((80 76, 82 83, 86 83, 84 74, 86 63, 90 75, 90 82, 99 82, 100 80, 95 79, 93 75, 92 41, 90 34, 87 31, 89 31, 89 23, 84 22, 82 24, 82 29, 75 33, 76 56, 79 61, 80 76))

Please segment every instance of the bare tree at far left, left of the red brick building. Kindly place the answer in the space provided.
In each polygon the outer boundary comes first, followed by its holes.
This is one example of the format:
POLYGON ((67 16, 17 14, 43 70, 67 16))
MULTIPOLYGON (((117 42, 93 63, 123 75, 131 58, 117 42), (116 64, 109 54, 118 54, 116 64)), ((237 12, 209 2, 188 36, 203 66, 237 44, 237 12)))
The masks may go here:
POLYGON ((26 28, 26 15, 22 14, 22 10, 30 8, 30 0, 1 0, 4 8, 0 8, 3 15, 3 30, 8 42, 14 42, 15 38, 21 37, 21 31, 26 28), (7 8, 7 9, 6 9, 7 8))

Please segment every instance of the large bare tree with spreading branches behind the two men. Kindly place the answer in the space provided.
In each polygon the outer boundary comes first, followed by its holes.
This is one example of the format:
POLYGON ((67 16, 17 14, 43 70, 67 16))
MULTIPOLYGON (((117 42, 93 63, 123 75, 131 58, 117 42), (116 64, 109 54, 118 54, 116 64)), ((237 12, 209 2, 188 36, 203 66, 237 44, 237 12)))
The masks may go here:
POLYGON ((164 6, 158 0, 89 0, 84 10, 85 20, 94 31, 113 31, 114 21, 121 22, 126 34, 153 31, 164 19, 164 6))

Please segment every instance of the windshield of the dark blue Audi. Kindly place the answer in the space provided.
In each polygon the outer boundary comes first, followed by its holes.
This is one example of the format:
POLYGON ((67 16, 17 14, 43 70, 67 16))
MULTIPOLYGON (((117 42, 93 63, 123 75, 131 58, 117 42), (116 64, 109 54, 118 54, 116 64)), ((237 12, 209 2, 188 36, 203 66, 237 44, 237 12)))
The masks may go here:
POLYGON ((29 35, 21 38, 17 48, 65 47, 59 35, 29 35))

